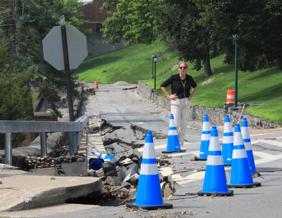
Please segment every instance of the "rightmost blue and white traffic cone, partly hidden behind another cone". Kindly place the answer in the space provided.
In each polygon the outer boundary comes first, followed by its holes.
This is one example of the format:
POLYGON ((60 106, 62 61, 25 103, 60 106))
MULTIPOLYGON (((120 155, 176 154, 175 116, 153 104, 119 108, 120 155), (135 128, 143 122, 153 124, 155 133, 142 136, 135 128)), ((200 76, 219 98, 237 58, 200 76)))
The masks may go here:
POLYGON ((247 118, 243 118, 243 121, 242 121, 242 137, 243 137, 244 146, 246 149, 249 165, 251 168, 251 174, 259 174, 259 172, 256 172, 256 166, 255 166, 255 161, 254 161, 254 155, 253 155, 253 150, 252 150, 252 145, 251 145, 247 118))

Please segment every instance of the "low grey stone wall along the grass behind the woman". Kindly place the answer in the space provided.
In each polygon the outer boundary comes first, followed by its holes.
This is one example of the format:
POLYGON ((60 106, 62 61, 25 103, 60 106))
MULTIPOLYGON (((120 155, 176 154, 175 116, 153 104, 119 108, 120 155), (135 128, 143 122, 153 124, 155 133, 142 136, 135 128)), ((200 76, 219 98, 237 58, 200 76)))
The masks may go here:
MULTIPOLYGON (((163 98, 153 92, 153 89, 149 87, 144 82, 138 82, 138 91, 143 94, 147 99, 155 102, 159 107, 163 109, 170 110, 170 100, 163 98)), ((239 121, 239 117, 242 111, 242 106, 244 103, 239 102, 238 107, 233 107, 234 104, 224 104, 224 109, 213 108, 213 107, 203 107, 198 104, 191 105, 190 109, 190 120, 195 120, 198 122, 203 121, 204 114, 209 116, 209 123, 212 125, 224 125, 224 119, 226 115, 230 116, 231 124, 234 126, 239 121)), ((259 104, 247 104, 246 108, 259 106, 259 104)), ((252 116, 243 112, 242 118, 247 118, 248 125, 253 129, 273 129, 280 128, 282 125, 275 124, 269 120, 263 119, 261 117, 252 116)))

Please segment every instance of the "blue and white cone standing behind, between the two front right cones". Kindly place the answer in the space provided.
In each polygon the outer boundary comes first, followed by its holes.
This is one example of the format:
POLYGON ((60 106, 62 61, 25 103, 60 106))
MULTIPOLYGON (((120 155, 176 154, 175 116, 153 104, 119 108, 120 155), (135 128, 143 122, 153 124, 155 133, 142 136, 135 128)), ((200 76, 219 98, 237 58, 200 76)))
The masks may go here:
POLYGON ((233 151, 233 132, 230 123, 229 116, 225 116, 224 131, 223 131, 223 141, 222 141, 222 158, 224 165, 230 165, 232 160, 233 151))

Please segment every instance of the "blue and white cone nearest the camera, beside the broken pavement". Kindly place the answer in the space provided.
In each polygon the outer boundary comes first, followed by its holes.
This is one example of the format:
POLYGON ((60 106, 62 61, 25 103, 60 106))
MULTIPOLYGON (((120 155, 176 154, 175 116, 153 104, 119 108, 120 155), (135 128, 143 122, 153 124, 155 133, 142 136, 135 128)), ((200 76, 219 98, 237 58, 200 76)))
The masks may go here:
POLYGON ((166 204, 162 201, 152 132, 147 132, 145 138, 136 200, 134 203, 126 203, 126 206, 142 207, 143 209, 172 208, 172 204, 166 204))

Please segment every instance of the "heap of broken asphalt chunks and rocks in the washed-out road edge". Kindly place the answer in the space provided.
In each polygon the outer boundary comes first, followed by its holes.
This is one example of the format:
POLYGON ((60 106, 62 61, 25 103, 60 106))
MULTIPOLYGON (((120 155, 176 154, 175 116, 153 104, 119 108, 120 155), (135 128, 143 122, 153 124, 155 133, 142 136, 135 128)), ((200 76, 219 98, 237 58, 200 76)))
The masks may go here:
MULTIPOLYGON (((111 204, 108 202, 107 206, 133 202, 136 198, 142 161, 142 156, 137 148, 144 145, 139 144, 138 140, 144 140, 146 134, 136 130, 134 125, 108 126, 105 121, 103 127, 99 129, 108 154, 114 157, 110 162, 103 163, 102 169, 94 172, 94 175, 96 174, 103 180, 104 198, 113 197, 113 194, 109 194, 109 192, 111 193, 113 190, 116 192, 115 199, 111 204)), ((157 159, 158 167, 162 168, 170 164, 168 160, 164 160, 167 158, 171 158, 171 156, 157 159)), ((160 181, 163 196, 165 199, 169 199, 173 188, 168 180, 167 172, 162 174, 160 181)))

